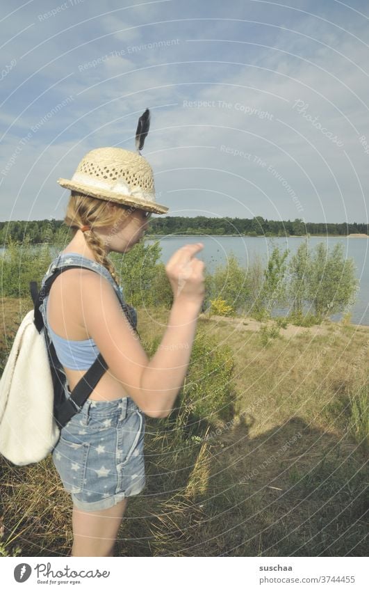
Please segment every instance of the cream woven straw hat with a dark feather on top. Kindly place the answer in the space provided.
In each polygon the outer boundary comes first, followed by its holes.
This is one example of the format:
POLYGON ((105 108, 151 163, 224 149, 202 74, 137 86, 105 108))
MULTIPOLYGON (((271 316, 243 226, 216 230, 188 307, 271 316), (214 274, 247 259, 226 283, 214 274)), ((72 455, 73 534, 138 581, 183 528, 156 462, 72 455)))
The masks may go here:
MULTIPOLYGON (((136 147, 142 149, 149 129, 149 109, 139 119, 136 147), (146 116, 147 127, 142 132, 140 121, 146 116), (141 134, 138 131, 141 131, 141 134), (142 137, 143 136, 143 137, 142 137), (141 139, 142 138, 142 139, 141 139)), ((97 148, 88 152, 70 180, 58 179, 61 187, 71 191, 132 205, 138 209, 165 214, 169 207, 156 203, 154 174, 148 161, 137 152, 123 148, 97 148)))

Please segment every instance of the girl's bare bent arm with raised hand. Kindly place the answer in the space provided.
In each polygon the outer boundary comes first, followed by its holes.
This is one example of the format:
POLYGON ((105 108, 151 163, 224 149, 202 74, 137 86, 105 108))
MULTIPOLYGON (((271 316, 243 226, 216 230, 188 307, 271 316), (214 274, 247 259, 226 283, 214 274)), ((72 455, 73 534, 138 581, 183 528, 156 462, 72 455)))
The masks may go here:
POLYGON ((174 302, 163 340, 149 359, 126 319, 110 283, 81 270, 79 285, 85 328, 129 396, 148 416, 167 416, 188 369, 197 317, 204 299, 204 263, 195 257, 202 244, 179 249, 165 270, 174 302))

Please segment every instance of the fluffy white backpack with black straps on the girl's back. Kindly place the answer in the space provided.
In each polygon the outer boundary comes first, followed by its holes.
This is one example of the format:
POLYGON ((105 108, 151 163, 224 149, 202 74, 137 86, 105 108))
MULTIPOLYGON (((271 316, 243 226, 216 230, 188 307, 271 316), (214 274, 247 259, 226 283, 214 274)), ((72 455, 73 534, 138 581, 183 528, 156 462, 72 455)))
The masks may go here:
MULTIPOLYGON (((66 398, 66 375, 44 328, 39 308, 51 285, 63 271, 81 267, 90 269, 83 263, 55 267, 40 292, 35 281, 30 283, 35 308, 19 326, 0 379, 0 454, 18 466, 47 457, 58 441, 60 428, 81 411, 108 369, 100 353, 66 398)), ((120 290, 115 292, 136 331, 136 310, 124 302, 120 290)))

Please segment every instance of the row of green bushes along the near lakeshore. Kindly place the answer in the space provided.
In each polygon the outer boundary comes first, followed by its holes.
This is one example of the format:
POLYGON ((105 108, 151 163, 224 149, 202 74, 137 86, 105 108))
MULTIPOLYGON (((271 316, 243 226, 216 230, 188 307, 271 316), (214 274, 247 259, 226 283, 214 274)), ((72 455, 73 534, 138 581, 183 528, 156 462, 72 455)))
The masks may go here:
MULTIPOLYGON (((40 283, 49 267, 50 245, 30 246, 28 236, 22 244, 10 239, 1 265, 3 296, 27 297, 29 282, 40 283)), ((142 240, 124 256, 114 252, 109 256, 124 285, 126 301, 133 306, 171 308, 173 292, 158 240, 154 244, 142 240)), ((213 273, 206 271, 205 283, 203 311, 265 320, 284 308, 290 322, 305 326, 347 311, 359 287, 354 260, 346 258, 343 244, 329 250, 320 242, 310 249, 307 240, 290 258, 287 250, 275 246, 268 260, 256 256, 247 268, 231 253, 226 265, 217 265, 213 273)))

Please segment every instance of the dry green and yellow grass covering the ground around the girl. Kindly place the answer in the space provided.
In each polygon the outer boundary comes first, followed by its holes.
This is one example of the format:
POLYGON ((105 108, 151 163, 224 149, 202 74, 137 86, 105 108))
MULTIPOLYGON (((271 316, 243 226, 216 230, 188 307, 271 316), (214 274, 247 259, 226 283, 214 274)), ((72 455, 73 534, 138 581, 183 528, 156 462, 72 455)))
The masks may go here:
MULTIPOLYGON (((30 307, 4 299, 3 359, 30 307)), ((168 314, 138 310, 148 352, 168 314)), ((369 331, 266 337, 199 320, 176 409, 147 418, 147 486, 116 555, 366 555, 369 331)), ((72 503, 51 457, 0 471, 0 555, 69 555, 72 503)))

